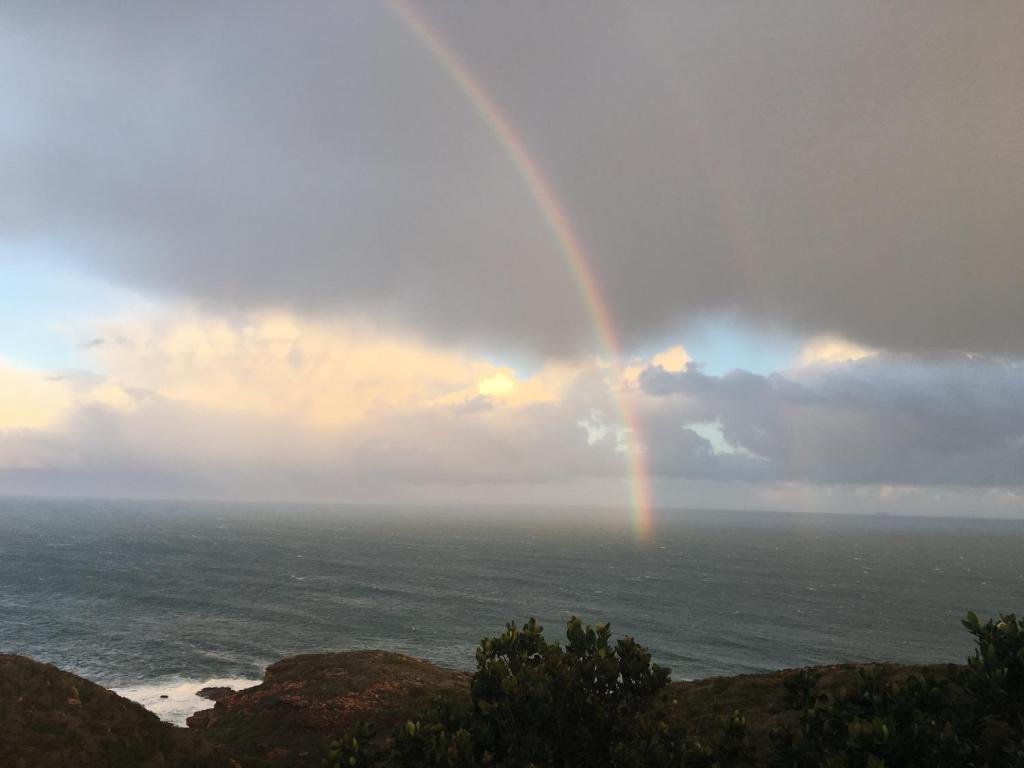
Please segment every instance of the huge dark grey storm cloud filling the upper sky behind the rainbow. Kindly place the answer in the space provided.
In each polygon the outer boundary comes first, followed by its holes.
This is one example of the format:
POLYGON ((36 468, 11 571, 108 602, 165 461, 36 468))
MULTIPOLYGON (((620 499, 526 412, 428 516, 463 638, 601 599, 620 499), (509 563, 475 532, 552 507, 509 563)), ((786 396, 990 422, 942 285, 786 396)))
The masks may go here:
MULTIPOLYGON (((422 7, 628 342, 735 311, 1024 352, 1024 6, 422 7)), ((8 2, 0 116, 0 239, 217 306, 591 343, 521 179, 383 5, 8 2)))

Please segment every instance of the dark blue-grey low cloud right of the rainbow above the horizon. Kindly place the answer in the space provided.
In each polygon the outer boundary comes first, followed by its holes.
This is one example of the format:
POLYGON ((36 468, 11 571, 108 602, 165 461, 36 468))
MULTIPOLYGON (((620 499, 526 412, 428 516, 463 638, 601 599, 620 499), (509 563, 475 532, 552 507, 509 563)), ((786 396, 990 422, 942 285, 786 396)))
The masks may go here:
POLYGON ((666 403, 648 434, 662 474, 1024 485, 1020 365, 879 356, 767 377, 712 377, 690 366, 648 369, 641 384, 666 403), (680 437, 686 424, 716 420, 737 454, 709 456, 710 443, 693 452, 695 435, 680 437))

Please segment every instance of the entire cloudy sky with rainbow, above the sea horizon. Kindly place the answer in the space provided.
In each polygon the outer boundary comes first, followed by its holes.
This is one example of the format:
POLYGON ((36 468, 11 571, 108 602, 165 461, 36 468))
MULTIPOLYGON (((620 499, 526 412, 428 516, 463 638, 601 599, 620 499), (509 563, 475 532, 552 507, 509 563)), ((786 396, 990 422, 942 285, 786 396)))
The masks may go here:
POLYGON ((0 494, 1024 516, 1021 39, 9 0, 0 494))

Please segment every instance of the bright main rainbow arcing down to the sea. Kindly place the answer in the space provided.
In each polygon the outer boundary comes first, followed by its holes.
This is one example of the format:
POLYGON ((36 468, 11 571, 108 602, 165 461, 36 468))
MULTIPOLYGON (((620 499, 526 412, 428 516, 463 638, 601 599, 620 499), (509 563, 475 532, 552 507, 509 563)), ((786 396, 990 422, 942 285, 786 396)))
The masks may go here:
MULTIPOLYGON (((526 144, 487 90, 473 77, 459 54, 444 41, 430 22, 408 0, 391 0, 388 5, 459 86, 466 100, 472 104, 522 177, 579 288, 604 354, 612 366, 617 367, 622 360, 622 346, 615 333, 611 312, 601 294, 597 275, 565 214, 564 206, 541 172, 526 144)), ((629 396, 618 391, 618 388, 620 385, 616 384, 613 390, 614 401, 625 432, 634 530, 638 539, 646 540, 651 531, 650 475, 643 446, 639 442, 640 425, 636 413, 629 396)))

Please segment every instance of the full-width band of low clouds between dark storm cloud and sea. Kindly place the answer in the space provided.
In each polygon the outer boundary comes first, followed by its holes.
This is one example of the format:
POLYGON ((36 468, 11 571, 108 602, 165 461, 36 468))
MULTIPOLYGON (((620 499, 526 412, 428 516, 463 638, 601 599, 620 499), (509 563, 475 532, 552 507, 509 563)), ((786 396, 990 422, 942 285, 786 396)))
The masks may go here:
POLYGON ((175 306, 87 330, 119 339, 87 350, 101 373, 0 368, 6 493, 625 504, 623 398, 666 506, 955 511, 949 489, 974 488, 1004 514, 1024 488, 1024 365, 998 358, 831 340, 769 376, 710 376, 678 346, 635 375, 581 358, 527 376, 285 311, 175 306))

